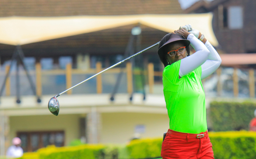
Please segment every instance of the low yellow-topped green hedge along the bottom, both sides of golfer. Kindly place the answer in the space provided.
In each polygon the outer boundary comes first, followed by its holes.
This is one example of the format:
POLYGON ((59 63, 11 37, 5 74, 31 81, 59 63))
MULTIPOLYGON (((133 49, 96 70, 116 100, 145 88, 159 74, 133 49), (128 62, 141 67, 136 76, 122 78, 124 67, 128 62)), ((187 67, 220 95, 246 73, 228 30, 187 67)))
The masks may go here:
MULTIPOLYGON (((209 132, 215 159, 256 158, 256 133, 252 131, 209 132)), ((49 146, 19 159, 141 159, 161 154, 162 138, 133 140, 127 145, 49 146)))

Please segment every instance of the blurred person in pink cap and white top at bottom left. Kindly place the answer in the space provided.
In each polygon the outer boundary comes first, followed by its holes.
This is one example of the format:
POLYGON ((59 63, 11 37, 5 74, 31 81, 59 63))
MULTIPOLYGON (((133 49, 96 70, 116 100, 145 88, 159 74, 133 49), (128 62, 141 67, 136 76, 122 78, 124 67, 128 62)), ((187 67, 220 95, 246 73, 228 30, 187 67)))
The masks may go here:
POLYGON ((10 146, 6 152, 7 157, 22 157, 23 149, 20 147, 21 140, 18 137, 12 139, 12 146, 10 146))

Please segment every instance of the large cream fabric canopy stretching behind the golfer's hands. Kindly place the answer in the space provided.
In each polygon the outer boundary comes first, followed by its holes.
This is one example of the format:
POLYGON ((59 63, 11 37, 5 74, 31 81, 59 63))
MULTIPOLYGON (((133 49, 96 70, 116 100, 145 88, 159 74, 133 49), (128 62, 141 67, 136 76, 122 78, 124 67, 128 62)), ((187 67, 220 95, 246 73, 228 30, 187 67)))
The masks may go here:
POLYGON ((120 15, 69 17, 4 17, 0 18, 0 43, 25 45, 33 42, 79 35, 104 29, 140 23, 165 32, 191 24, 212 43, 218 41, 212 30, 211 13, 180 15, 120 15))

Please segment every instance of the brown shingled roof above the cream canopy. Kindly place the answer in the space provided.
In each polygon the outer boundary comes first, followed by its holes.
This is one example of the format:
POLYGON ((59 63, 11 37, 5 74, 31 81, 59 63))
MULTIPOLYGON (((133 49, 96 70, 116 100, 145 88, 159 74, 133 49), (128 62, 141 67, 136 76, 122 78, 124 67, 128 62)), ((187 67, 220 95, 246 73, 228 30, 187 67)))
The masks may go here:
POLYGON ((181 14, 178 0, 1 0, 0 17, 181 14))

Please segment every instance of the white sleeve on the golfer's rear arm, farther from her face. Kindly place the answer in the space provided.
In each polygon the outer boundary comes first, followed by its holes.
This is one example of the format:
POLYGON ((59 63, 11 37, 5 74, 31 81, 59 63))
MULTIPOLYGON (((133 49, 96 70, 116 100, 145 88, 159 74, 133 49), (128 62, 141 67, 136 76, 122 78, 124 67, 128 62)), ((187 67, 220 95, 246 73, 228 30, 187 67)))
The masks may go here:
POLYGON ((210 54, 208 59, 202 65, 201 79, 204 79, 211 75, 221 65, 221 57, 208 40, 205 42, 205 46, 210 51, 210 54))

